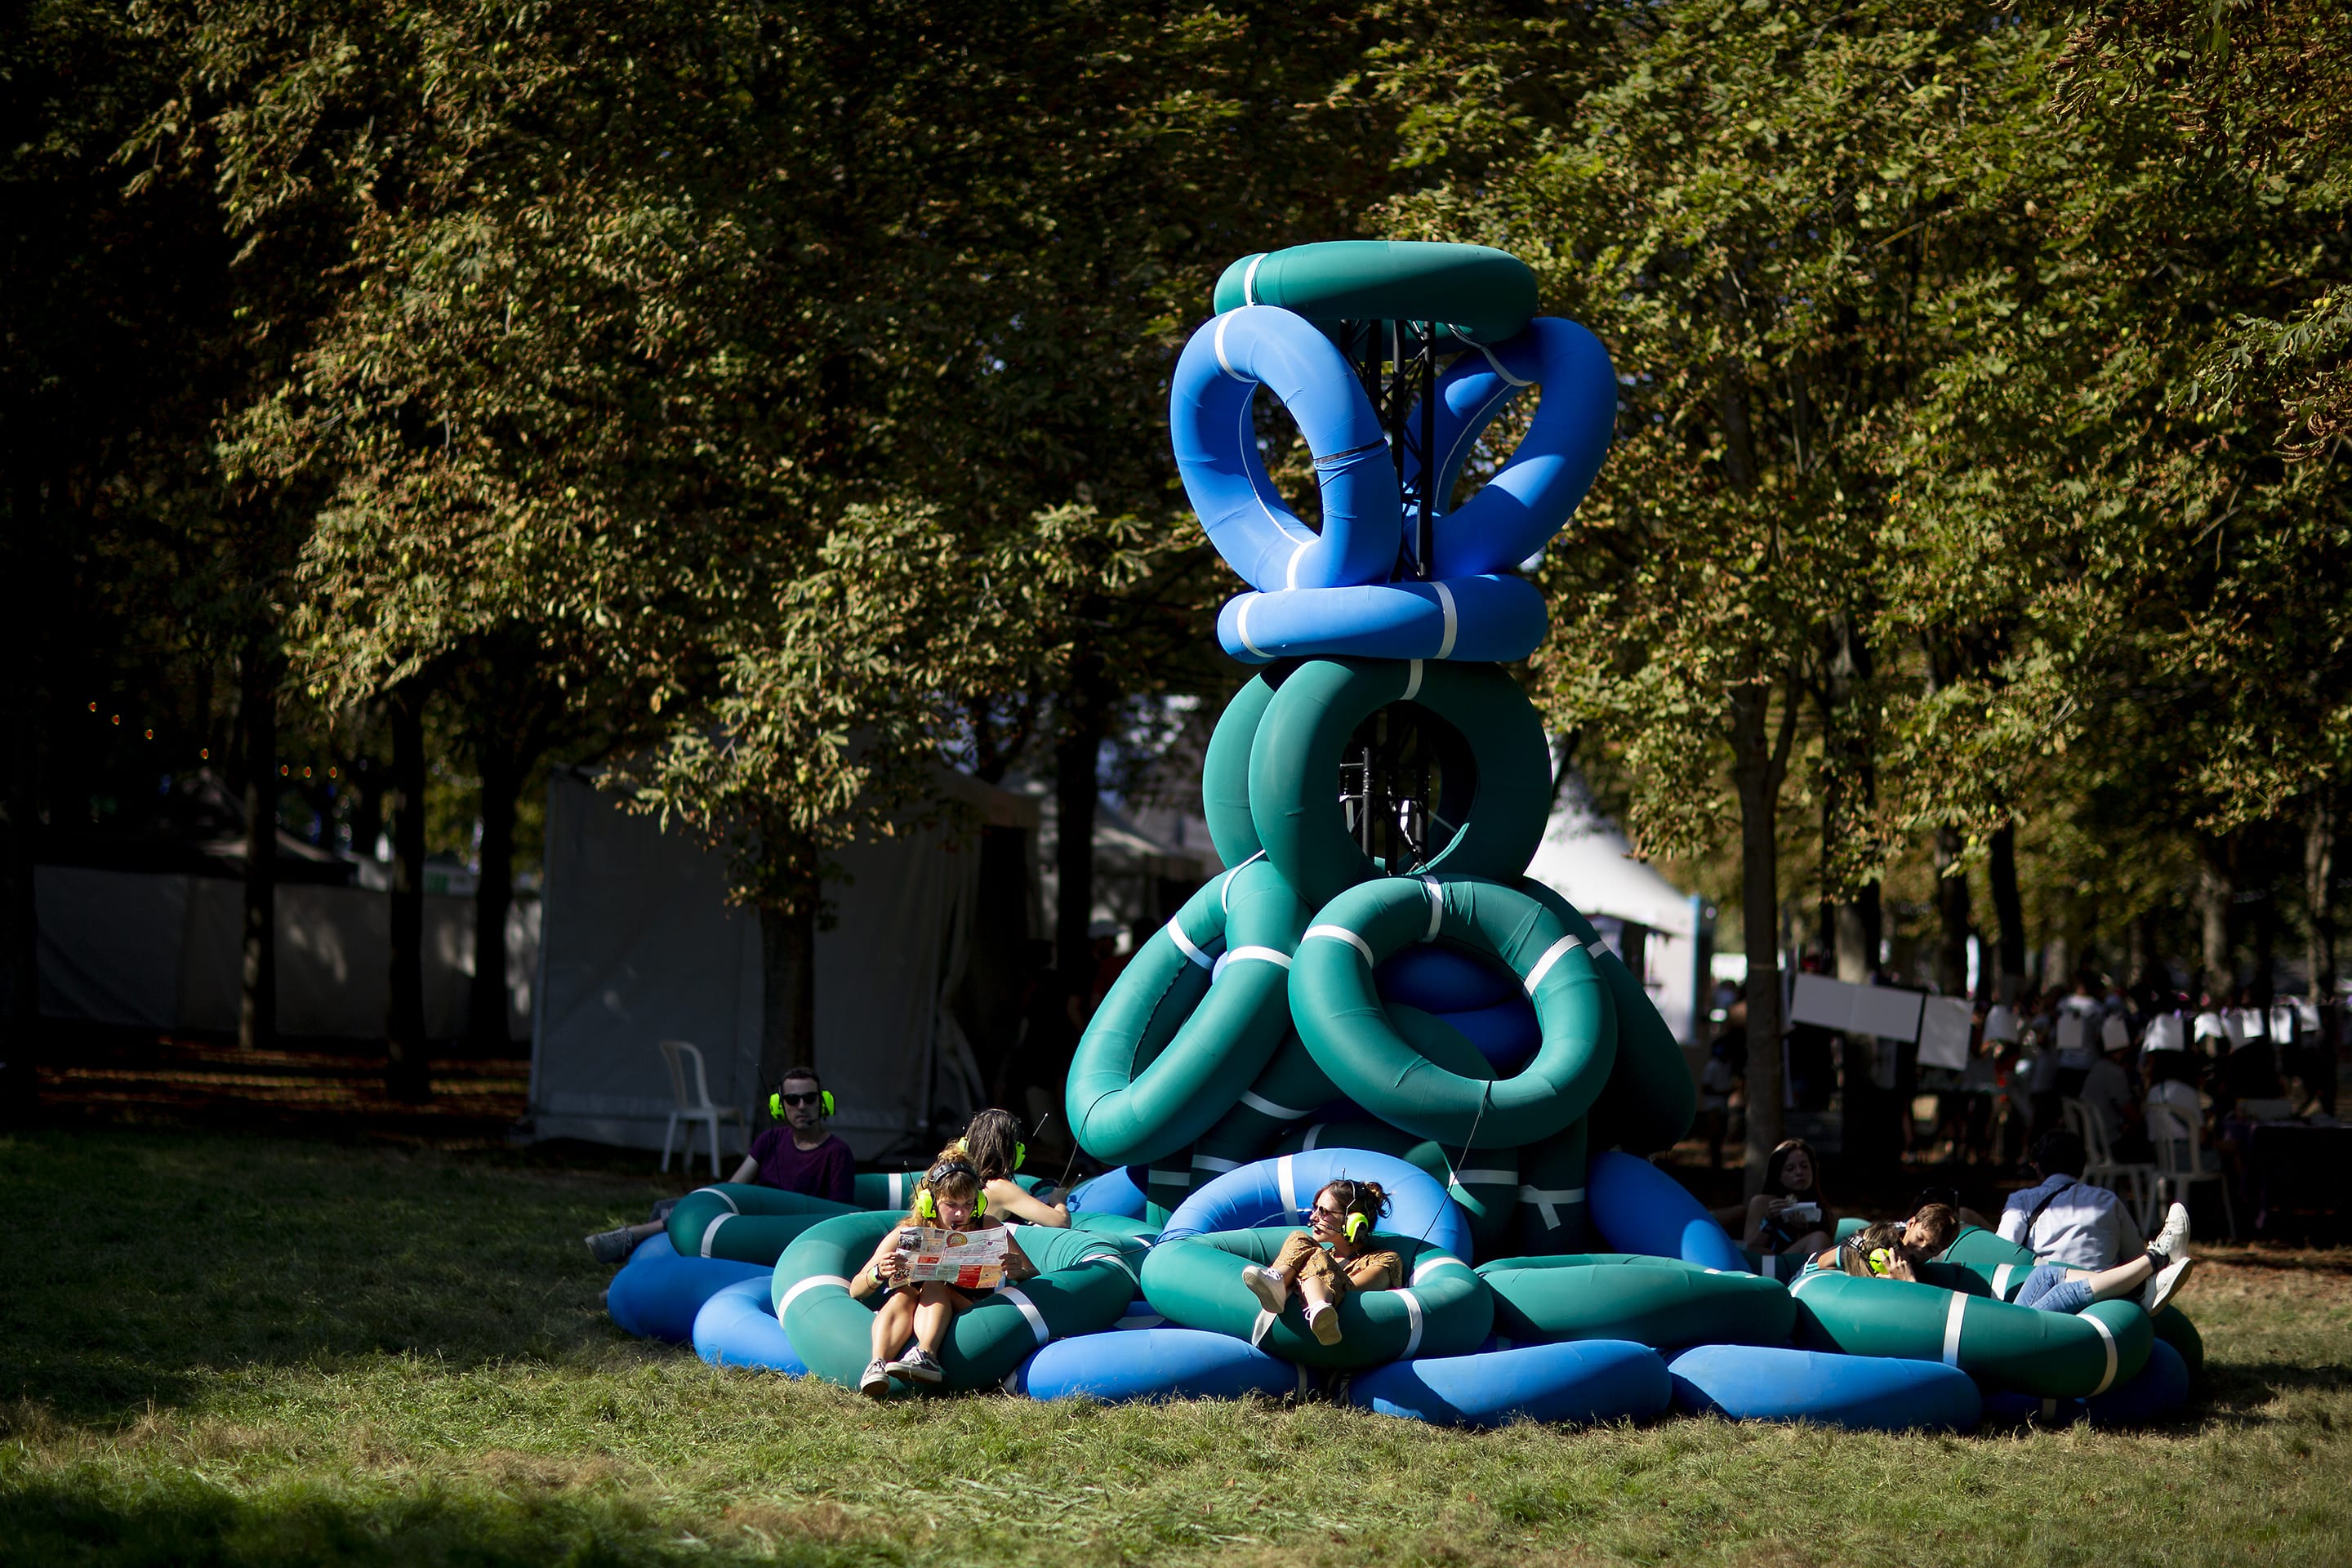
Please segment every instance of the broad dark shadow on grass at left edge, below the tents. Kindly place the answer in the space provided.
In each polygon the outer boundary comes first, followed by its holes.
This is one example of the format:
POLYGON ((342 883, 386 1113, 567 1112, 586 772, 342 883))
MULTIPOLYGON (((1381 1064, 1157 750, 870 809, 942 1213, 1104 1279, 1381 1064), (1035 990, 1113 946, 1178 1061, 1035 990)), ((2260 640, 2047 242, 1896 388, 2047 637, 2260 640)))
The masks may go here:
POLYGON ((579 1239, 644 1201, 614 1175, 183 1133, 5 1138, 0 1187, 0 1399, 99 1425, 247 1366, 602 1345, 609 1269, 579 1239))

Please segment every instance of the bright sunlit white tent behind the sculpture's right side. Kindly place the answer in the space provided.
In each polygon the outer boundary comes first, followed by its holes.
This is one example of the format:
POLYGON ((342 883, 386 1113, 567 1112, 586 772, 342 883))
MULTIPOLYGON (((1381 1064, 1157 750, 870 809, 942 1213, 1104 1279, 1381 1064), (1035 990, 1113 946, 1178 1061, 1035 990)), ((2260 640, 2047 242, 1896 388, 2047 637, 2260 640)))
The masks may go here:
POLYGON ((1526 875, 1573 903, 1637 973, 1675 1039, 1700 1044, 1708 997, 1708 905, 1632 853, 1625 832, 1592 804, 1573 769, 1526 875), (1639 940, 1632 933, 1639 929, 1639 940), (1639 952, 1635 952, 1639 947, 1639 952))

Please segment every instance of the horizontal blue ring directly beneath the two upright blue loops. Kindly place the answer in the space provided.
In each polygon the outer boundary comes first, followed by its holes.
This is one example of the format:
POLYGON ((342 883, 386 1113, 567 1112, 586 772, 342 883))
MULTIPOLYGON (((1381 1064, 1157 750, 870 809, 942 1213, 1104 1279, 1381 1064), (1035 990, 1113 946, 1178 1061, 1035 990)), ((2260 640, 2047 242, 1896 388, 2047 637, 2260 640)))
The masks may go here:
POLYGON ((1216 611, 1216 642, 1244 665, 1277 658, 1465 658, 1503 665, 1543 642, 1543 590, 1517 576, 1244 592, 1216 611))

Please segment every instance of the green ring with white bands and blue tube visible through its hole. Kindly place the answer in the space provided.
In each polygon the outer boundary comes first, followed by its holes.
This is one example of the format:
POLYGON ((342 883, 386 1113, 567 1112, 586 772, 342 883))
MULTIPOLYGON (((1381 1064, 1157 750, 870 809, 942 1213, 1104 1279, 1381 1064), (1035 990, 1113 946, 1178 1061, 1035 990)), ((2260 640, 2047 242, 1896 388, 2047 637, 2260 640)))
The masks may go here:
POLYGON ((1592 954, 1526 893, 1470 877, 1383 877, 1327 903, 1291 964, 1291 1016, 1308 1051, 1357 1105, 1456 1150, 1566 1131, 1616 1060, 1616 1006, 1592 954), (1496 1079, 1468 1041, 1468 1060, 1432 1060, 1430 1032, 1421 1044, 1409 1039, 1374 990, 1383 959, 1432 936, 1491 952, 1534 999, 1543 1044, 1508 1079, 1496 1079))

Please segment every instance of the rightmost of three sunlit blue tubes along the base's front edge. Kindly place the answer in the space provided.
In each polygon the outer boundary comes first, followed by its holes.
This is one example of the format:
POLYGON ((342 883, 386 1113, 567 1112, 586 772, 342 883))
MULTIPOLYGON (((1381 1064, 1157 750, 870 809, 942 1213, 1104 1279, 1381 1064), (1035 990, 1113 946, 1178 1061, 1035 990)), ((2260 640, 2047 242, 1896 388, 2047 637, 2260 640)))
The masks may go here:
POLYGON ((1943 1361, 1837 1356, 1778 1345, 1700 1345, 1675 1356, 1675 1406, 1691 1415, 1792 1420, 1849 1432, 1976 1432, 1976 1380, 1943 1361))

